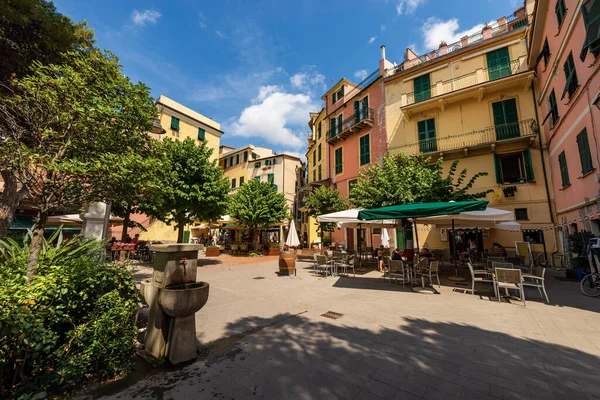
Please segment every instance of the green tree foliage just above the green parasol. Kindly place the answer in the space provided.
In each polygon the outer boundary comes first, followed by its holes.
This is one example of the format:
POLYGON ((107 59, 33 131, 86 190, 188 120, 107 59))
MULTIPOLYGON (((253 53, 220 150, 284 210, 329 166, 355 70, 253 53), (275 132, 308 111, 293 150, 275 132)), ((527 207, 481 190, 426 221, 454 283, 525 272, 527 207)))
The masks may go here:
POLYGON ((423 154, 389 155, 383 165, 375 164, 360 174, 350 191, 350 202, 376 208, 407 202, 475 200, 492 191, 472 193, 477 179, 488 173, 478 172, 467 180, 466 168, 457 174, 458 163, 455 160, 444 176, 442 159, 431 163, 423 154))

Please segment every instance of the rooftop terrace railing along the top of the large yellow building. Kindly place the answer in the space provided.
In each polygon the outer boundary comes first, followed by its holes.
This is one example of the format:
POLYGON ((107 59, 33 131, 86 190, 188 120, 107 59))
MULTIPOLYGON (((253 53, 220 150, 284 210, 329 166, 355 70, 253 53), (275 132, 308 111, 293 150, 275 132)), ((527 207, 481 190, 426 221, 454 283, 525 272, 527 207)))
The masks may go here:
POLYGON ((513 16, 508 17, 506 19, 506 21, 507 22, 505 24, 498 25, 498 26, 495 26, 494 28, 492 28, 491 37, 484 38, 482 31, 474 33, 466 38, 462 38, 461 40, 458 40, 454 43, 448 44, 447 49, 445 50, 444 53, 440 52, 440 49, 438 48, 436 50, 432 50, 426 54, 418 56, 417 58, 415 58, 413 60, 406 60, 402 64, 397 66, 394 72, 406 71, 410 68, 416 67, 417 65, 420 65, 424 62, 434 60, 445 54, 452 53, 454 51, 458 51, 458 50, 465 48, 467 46, 470 46, 472 44, 482 42, 484 40, 489 40, 496 36, 502 35, 506 32, 510 32, 510 31, 522 28, 524 26, 527 26, 527 25, 529 25, 529 15, 524 15, 524 16, 520 16, 520 17, 516 17, 513 15, 513 16))

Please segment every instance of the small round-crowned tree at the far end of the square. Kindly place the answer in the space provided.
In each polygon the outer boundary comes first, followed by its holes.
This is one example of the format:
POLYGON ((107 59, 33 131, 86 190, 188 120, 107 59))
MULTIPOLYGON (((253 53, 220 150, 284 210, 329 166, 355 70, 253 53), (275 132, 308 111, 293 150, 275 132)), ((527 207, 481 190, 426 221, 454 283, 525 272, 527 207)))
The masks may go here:
POLYGON ((251 179, 231 196, 229 215, 250 230, 251 243, 257 229, 266 229, 283 221, 288 215, 285 196, 270 183, 251 179))

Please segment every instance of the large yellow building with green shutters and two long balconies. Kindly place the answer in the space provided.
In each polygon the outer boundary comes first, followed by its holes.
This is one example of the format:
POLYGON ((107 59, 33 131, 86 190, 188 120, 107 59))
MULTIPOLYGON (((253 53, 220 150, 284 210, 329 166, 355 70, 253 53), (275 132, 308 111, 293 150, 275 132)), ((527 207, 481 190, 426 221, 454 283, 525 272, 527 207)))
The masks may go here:
MULTIPOLYGON (((534 72, 527 66, 527 14, 522 7, 423 56, 407 49, 405 61, 386 71, 388 151, 442 157, 446 171, 460 158, 459 172, 466 168, 469 177, 487 172, 472 191, 493 189, 490 207, 513 211, 523 229, 536 231, 491 229, 477 234, 480 249, 493 242, 514 249, 526 235, 535 242, 543 235, 550 256, 559 244, 547 230, 554 205, 532 94, 534 72)), ((448 248, 440 227, 419 228, 419 242, 448 248)), ((533 250, 543 252, 544 246, 533 250)))

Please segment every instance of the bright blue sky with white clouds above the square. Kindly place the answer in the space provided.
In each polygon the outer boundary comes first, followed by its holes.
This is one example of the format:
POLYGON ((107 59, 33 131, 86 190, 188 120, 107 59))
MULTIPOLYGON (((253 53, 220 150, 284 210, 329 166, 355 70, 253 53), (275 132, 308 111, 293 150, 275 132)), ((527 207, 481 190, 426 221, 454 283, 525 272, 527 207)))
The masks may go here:
POLYGON ((221 123, 222 144, 304 153, 308 112, 341 77, 400 63, 511 15, 520 0, 55 0, 152 95, 221 123))

